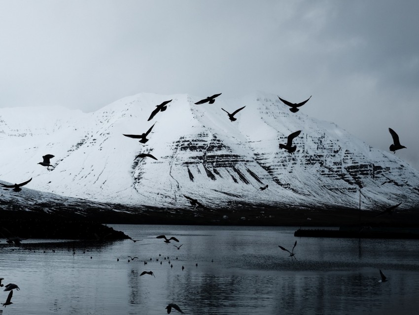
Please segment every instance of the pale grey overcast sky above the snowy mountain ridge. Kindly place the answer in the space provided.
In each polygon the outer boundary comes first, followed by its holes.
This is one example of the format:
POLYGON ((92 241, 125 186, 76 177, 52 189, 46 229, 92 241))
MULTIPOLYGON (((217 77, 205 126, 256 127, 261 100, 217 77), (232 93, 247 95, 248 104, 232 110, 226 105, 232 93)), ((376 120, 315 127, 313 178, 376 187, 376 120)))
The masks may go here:
MULTIPOLYGON (((0 0, 0 107, 152 92, 301 102, 419 169, 417 0, 0 0)), ((245 104, 244 104, 245 105, 245 104)))

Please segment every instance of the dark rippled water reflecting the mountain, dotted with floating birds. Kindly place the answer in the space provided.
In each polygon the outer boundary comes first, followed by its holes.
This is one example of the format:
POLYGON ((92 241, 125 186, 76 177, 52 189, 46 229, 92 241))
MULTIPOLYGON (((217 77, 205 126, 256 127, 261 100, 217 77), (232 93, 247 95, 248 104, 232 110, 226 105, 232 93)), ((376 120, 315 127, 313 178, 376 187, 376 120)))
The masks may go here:
MULTIPOLYGON (((112 227, 143 240, 73 247, 31 239, 20 248, 1 240, 2 283, 21 289, 3 314, 153 315, 167 314, 172 302, 186 314, 418 314, 419 240, 297 238, 295 228, 272 227, 112 227), (155 238, 161 234, 182 247, 155 238), (278 245, 291 250, 295 240, 292 261, 278 245), (379 269, 388 282, 379 282, 379 269)), ((1 303, 7 293, 0 291, 1 303)))

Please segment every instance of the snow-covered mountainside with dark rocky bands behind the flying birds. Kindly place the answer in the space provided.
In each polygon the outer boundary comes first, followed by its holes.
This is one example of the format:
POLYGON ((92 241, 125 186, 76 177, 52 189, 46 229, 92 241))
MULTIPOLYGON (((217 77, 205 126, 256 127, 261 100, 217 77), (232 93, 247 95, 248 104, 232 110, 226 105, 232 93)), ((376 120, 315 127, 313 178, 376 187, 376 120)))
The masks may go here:
POLYGON ((144 93, 88 114, 57 107, 0 109, 0 179, 33 177, 24 189, 164 207, 187 206, 183 195, 208 207, 357 207, 359 187, 363 208, 419 204, 418 170, 397 153, 307 117, 304 107, 293 114, 276 95, 263 93, 234 100, 221 95, 214 104, 195 105, 198 100, 144 93), (147 121, 156 105, 170 99, 165 112, 147 121), (221 110, 242 106, 234 122, 221 110), (146 144, 123 136, 146 132, 153 123, 146 144), (297 130, 296 152, 279 149, 297 130), (158 160, 135 159, 140 153, 158 160), (55 156, 52 171, 37 164, 46 154, 55 156), (382 185, 388 180, 394 182, 382 185))

